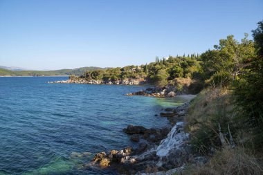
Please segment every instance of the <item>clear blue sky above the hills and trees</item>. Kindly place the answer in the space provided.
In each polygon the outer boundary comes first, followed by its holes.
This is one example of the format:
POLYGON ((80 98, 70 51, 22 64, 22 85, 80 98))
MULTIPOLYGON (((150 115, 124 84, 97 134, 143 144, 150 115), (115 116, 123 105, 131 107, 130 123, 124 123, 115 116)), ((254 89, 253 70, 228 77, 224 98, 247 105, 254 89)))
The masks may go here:
POLYGON ((251 34, 262 9, 262 0, 0 0, 0 65, 116 67, 202 53, 251 34))

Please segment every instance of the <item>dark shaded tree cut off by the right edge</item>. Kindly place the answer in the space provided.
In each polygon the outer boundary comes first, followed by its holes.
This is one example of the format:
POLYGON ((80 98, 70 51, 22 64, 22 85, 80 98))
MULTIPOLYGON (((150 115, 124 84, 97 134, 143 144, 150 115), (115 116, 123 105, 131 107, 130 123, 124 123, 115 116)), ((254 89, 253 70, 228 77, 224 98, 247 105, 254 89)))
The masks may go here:
POLYGON ((263 21, 252 30, 257 55, 246 60, 244 74, 234 86, 235 103, 239 119, 246 128, 253 129, 255 146, 263 146, 263 21))

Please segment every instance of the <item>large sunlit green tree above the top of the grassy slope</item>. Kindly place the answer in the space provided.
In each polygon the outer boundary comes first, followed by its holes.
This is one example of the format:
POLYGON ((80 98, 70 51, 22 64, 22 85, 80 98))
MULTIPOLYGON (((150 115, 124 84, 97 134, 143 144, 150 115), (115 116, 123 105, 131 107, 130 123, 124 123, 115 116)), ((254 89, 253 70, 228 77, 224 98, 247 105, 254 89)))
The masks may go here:
POLYGON ((220 39, 215 50, 201 54, 203 77, 207 84, 228 86, 243 73, 248 59, 255 55, 253 41, 245 34, 239 43, 233 35, 220 39))

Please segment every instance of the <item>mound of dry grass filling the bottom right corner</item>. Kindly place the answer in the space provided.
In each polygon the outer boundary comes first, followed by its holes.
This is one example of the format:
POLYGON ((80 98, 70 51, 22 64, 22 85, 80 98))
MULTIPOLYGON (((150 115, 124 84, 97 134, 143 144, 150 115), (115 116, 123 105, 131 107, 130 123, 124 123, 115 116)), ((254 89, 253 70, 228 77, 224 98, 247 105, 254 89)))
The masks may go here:
POLYGON ((190 167, 181 174, 192 175, 260 175, 263 174, 262 158, 246 153, 242 147, 217 151, 206 165, 190 167))

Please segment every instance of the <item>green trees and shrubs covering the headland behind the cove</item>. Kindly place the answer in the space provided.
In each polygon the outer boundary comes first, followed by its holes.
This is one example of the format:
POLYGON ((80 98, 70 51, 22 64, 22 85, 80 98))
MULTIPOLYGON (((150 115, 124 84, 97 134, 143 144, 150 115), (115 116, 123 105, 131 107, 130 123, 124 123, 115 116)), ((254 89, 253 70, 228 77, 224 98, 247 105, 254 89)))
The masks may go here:
POLYGON ((194 77, 201 70, 200 61, 197 55, 189 57, 176 56, 168 59, 159 59, 155 62, 141 66, 125 66, 123 68, 108 68, 104 71, 87 71, 82 75, 87 80, 125 80, 125 79, 145 79, 156 86, 164 86, 169 80, 177 77, 194 77))

